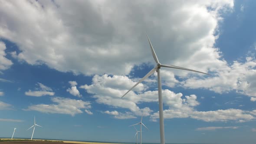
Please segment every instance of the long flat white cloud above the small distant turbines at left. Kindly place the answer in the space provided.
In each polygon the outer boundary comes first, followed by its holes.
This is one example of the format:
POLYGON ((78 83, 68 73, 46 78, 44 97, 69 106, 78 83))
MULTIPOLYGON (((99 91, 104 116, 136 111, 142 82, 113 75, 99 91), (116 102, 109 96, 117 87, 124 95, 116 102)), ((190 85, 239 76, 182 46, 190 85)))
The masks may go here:
POLYGON ((55 97, 51 98, 54 103, 57 104, 39 104, 39 105, 30 105, 25 111, 40 111, 43 113, 50 114, 67 114, 67 115, 76 115, 83 113, 81 109, 85 109, 86 113, 92 115, 88 109, 91 108, 91 103, 88 101, 75 100, 70 98, 61 98, 55 97))

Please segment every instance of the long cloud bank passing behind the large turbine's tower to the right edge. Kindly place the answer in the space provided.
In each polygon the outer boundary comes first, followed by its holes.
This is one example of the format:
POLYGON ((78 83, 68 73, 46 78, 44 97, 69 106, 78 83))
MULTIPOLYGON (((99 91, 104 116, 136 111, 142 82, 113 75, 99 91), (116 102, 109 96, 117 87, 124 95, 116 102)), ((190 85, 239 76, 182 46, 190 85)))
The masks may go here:
MULTIPOLYGON (((130 79, 113 75, 95 75, 92 80, 92 85, 83 85, 86 92, 93 94, 96 102, 109 105, 116 108, 126 108, 130 111, 125 113, 119 111, 105 111, 106 114, 114 116, 114 118, 135 118, 136 116, 150 115, 151 121, 157 121, 159 118, 158 112, 151 114, 153 111, 148 108, 139 108, 138 104, 142 102, 154 102, 158 105, 158 91, 139 91, 138 94, 131 91, 124 98, 121 98, 125 92, 131 88, 134 82, 130 79), (129 85, 119 85, 118 79, 129 85), (122 116, 122 117, 121 117, 122 116)), ((145 89, 141 85, 141 90, 145 89)), ((164 105, 168 109, 164 110, 164 118, 194 118, 201 121, 237 121, 245 122, 254 119, 251 115, 253 111, 243 111, 240 109, 226 109, 217 111, 197 111, 195 108, 200 103, 197 101, 196 95, 185 95, 174 93, 170 90, 162 90, 164 105)))

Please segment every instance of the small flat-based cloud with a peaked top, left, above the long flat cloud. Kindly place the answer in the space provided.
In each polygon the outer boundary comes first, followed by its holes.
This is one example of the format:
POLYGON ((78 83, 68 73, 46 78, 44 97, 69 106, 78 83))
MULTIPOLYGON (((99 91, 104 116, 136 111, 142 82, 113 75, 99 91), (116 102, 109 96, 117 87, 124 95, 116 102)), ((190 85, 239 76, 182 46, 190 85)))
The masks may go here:
POLYGON ((39 82, 36 85, 39 86, 39 88, 35 88, 35 89, 37 89, 36 91, 29 90, 28 92, 25 92, 25 95, 40 97, 40 96, 43 96, 43 95, 53 96, 55 94, 54 92, 52 92, 53 91, 52 88, 49 88, 46 85, 43 85, 39 82))

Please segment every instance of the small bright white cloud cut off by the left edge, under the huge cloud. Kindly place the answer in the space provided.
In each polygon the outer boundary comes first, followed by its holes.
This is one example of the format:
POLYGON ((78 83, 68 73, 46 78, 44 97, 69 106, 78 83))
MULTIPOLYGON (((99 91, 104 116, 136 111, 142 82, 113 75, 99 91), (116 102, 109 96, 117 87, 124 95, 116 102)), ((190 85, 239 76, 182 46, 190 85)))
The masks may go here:
MULTIPOLYGON (((1 26, 0 26, 0 33, 1 33, 1 26)), ((6 49, 5 44, 0 41, 0 71, 9 69, 10 66, 13 65, 13 62, 5 57, 6 56, 6 53, 4 51, 5 49, 6 49)), ((1 79, 0 81, 3 81, 3 79, 1 79)))

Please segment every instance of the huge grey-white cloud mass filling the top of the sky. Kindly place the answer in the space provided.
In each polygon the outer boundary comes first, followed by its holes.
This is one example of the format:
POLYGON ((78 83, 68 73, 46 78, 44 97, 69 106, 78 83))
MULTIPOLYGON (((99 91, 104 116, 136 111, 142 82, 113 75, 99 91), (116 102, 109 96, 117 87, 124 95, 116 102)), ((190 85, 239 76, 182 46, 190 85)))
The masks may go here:
POLYGON ((161 63, 207 72, 226 64, 213 45, 220 10, 232 8, 233 0, 8 0, 0 6, 0 37, 16 43, 21 52, 13 52, 13 57, 31 65, 44 63, 62 72, 85 75, 120 75, 131 72, 134 65, 154 62, 147 31, 161 63))

